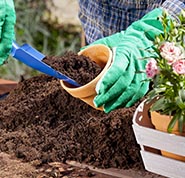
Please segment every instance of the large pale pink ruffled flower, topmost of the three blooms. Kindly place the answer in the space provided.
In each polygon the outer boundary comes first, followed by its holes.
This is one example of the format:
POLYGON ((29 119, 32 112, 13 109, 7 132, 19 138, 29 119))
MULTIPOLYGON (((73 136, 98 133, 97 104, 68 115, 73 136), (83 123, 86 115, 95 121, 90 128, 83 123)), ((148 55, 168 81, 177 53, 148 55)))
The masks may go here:
POLYGON ((160 46, 159 50, 161 56, 168 61, 169 65, 182 58, 181 48, 175 46, 174 43, 165 42, 160 46))

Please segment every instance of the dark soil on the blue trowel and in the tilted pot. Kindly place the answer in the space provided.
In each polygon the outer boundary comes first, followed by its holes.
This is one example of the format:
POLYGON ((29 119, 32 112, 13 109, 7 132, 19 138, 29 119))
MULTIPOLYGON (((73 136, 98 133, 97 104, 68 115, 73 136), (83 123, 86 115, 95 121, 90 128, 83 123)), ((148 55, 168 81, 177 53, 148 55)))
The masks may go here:
POLYGON ((63 57, 48 56, 42 61, 69 78, 76 80, 80 85, 85 85, 93 80, 102 70, 88 57, 78 56, 72 52, 66 53, 63 57))

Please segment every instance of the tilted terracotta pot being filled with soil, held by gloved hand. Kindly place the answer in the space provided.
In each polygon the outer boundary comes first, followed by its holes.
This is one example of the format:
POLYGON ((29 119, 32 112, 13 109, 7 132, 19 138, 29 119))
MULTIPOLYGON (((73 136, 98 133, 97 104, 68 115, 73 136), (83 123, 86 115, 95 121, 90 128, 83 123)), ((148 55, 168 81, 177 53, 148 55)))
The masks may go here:
POLYGON ((60 83, 64 90, 66 90, 73 97, 81 99, 82 101, 86 102, 88 105, 94 107, 95 109, 103 110, 102 107, 96 108, 94 106, 93 100, 96 96, 95 88, 97 82, 100 80, 102 75, 107 71, 107 69, 111 65, 112 51, 107 46, 98 44, 89 46, 88 48, 80 51, 78 55, 84 55, 86 57, 89 57, 92 61, 96 62, 102 68, 101 73, 92 81, 80 87, 74 88, 74 86, 62 80, 60 80, 60 83))

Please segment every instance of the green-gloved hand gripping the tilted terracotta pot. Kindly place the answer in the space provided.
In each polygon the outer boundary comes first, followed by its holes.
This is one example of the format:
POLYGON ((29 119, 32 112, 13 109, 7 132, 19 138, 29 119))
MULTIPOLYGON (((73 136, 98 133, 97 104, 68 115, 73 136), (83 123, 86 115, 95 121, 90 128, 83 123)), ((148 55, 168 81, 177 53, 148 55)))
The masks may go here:
POLYGON ((96 86, 96 107, 104 106, 106 113, 120 107, 130 107, 141 99, 149 88, 145 80, 146 48, 152 46, 155 35, 162 33, 163 27, 157 17, 162 9, 154 9, 142 19, 134 22, 125 31, 97 40, 94 44, 104 44, 115 49, 113 62, 96 86), (148 36, 148 37, 146 37, 148 36))

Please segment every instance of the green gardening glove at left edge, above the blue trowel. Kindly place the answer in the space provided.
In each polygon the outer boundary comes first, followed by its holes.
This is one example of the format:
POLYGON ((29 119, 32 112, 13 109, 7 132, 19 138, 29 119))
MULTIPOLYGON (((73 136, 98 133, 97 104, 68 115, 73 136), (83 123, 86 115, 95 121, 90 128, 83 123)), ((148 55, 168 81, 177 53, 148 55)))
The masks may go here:
POLYGON ((16 21, 13 0, 0 0, 0 65, 8 58, 16 21))

